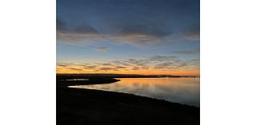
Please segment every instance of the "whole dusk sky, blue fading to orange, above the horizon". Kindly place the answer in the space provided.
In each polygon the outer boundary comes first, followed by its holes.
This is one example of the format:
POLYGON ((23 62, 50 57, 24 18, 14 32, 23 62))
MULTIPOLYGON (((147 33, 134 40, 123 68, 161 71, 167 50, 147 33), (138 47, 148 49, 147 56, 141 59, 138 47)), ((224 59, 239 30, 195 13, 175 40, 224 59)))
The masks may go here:
POLYGON ((57 0, 57 73, 200 76, 199 0, 57 0))

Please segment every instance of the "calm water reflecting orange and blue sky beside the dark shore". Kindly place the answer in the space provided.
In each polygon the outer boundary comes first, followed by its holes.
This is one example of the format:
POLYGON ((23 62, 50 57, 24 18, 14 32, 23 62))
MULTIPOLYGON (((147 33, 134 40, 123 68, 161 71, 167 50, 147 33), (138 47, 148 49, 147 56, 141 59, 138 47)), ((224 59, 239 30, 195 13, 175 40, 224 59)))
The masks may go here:
POLYGON ((200 106, 200 80, 198 78, 121 78, 118 80, 120 81, 112 84, 77 85, 70 86, 70 88, 125 92, 200 106))

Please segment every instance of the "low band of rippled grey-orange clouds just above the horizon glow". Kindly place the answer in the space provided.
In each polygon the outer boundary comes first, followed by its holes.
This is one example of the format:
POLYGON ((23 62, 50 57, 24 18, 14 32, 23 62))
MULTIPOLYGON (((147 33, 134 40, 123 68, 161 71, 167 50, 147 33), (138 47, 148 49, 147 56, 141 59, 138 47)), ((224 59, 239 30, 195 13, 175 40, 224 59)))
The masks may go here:
POLYGON ((199 68, 199 59, 182 60, 174 56, 154 56, 142 59, 126 59, 106 63, 62 64, 59 68, 76 71, 124 71, 124 70, 190 70, 199 68))

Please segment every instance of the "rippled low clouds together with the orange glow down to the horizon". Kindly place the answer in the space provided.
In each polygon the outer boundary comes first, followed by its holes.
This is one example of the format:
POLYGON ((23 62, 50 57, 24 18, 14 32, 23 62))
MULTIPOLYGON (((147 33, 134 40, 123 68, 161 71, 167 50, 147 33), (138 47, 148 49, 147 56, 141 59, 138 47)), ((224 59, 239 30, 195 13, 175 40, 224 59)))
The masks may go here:
POLYGON ((199 76, 199 60, 154 56, 104 63, 58 63, 57 73, 117 73, 142 75, 199 76))

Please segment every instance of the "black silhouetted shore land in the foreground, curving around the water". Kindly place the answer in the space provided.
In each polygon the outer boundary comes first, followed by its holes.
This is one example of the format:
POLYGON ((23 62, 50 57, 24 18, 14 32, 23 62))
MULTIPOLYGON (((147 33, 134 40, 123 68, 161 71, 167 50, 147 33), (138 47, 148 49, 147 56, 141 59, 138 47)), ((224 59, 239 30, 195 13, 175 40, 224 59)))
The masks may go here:
MULTIPOLYGON (((72 79, 75 77, 73 76, 72 79)), ((77 77, 76 77, 77 78, 77 77)), ((88 79, 78 84, 110 84, 111 77, 88 79)), ((66 77, 65 77, 66 79, 66 77)), ((71 77, 69 77, 71 79, 71 77)), ((57 76, 57 124, 199 124, 200 109, 120 92, 67 88, 68 82, 57 76)))

